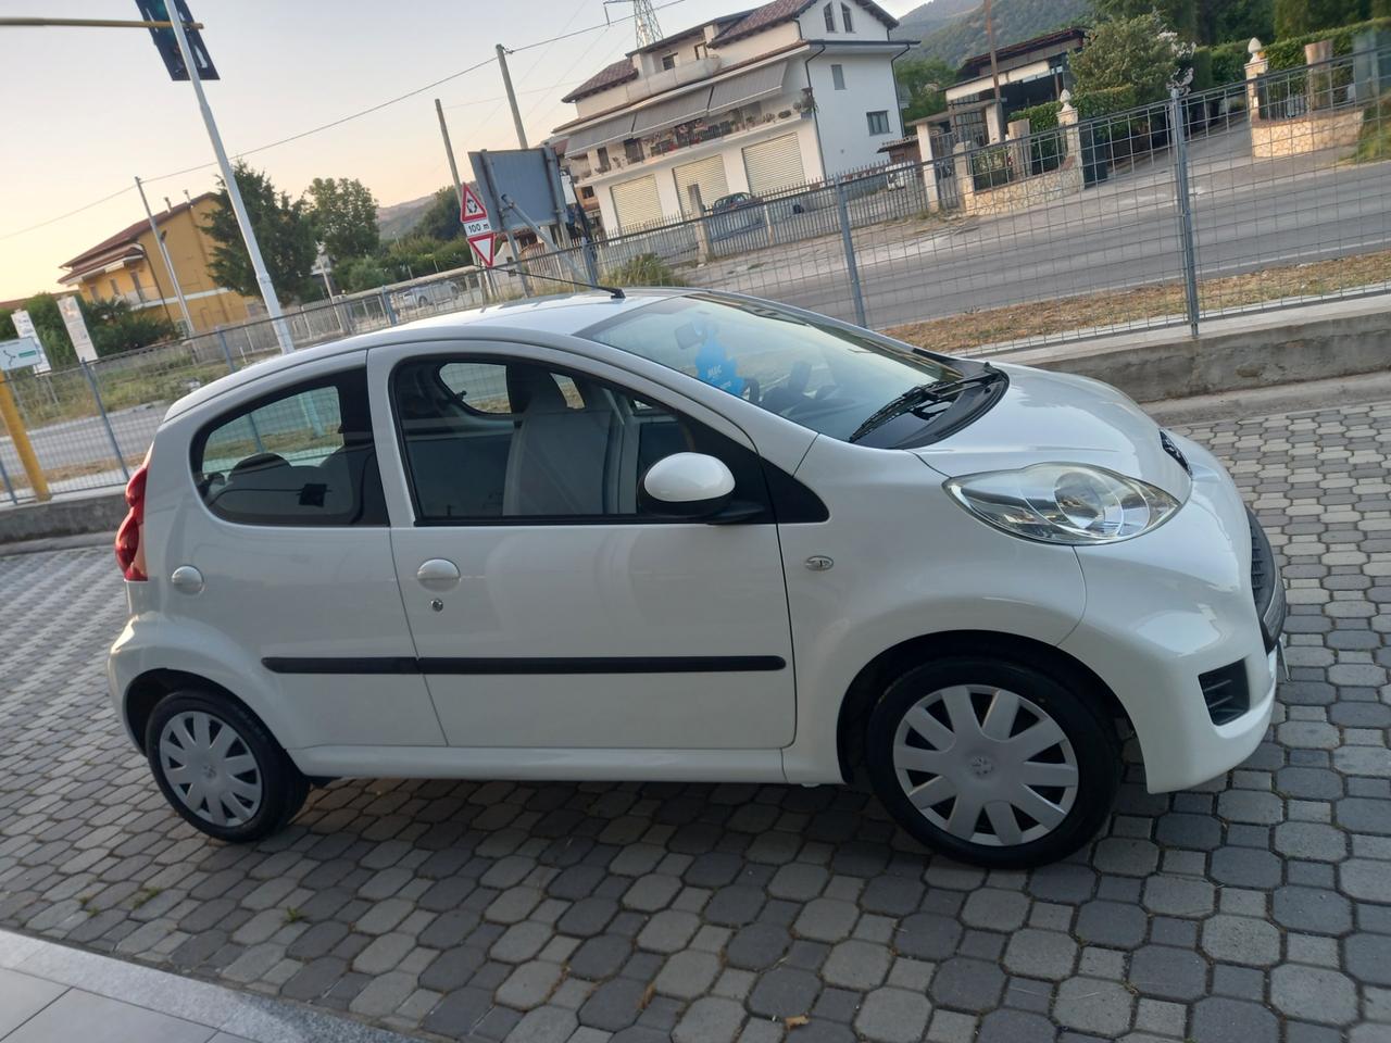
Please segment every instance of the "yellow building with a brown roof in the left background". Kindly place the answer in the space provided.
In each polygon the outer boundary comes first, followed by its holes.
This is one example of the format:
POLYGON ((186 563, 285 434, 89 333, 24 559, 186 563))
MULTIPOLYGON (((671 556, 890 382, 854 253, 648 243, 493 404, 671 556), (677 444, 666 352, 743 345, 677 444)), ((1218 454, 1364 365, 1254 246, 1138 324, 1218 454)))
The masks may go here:
MULTIPOLYGON (((216 209, 217 195, 204 192, 154 214, 198 332, 243 323, 253 317, 249 306, 260 307, 259 300, 218 286, 209 274, 214 243, 203 225, 216 209)), ((58 281, 79 291, 88 300, 124 298, 134 309, 157 307, 171 323, 182 325, 174 281, 146 220, 103 239, 63 267, 67 271, 58 281)))

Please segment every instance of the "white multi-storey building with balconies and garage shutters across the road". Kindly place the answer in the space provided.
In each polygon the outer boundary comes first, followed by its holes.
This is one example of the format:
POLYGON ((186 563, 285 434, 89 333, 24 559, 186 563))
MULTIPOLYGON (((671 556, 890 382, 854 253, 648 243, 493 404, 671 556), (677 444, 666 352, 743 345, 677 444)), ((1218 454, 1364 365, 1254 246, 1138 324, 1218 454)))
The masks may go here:
POLYGON ((773 0, 632 51, 563 102, 555 129, 609 234, 691 217, 691 185, 776 193, 883 163, 903 136, 890 40, 869 0, 773 0))

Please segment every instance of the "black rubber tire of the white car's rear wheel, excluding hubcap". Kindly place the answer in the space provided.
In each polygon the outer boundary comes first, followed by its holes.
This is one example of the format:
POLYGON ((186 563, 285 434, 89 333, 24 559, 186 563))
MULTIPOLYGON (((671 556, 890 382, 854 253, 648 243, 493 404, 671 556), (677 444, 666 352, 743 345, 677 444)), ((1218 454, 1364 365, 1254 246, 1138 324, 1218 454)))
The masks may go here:
MULTIPOLYGON (((191 718, 184 716, 184 722, 188 720, 191 718)), ((309 795, 309 780, 295 768, 280 743, 266 730, 266 726, 238 702, 216 693, 186 688, 170 693, 160 700, 145 727, 145 754, 154 782, 170 807, 196 829, 228 843, 245 844, 278 833, 303 807, 305 797, 309 795), (166 775, 166 762, 175 762, 168 758, 167 752, 161 752, 161 737, 170 722, 181 715, 206 715, 210 719, 210 734, 214 740, 221 731, 211 731, 211 726, 231 729, 232 738, 228 755, 238 758, 238 761, 242 758, 238 751, 250 755, 255 772, 246 770, 235 775, 238 780, 255 780, 260 787, 255 809, 245 818, 238 818, 235 812, 230 814, 232 805, 227 804, 218 804, 217 811, 211 811, 209 798, 202 800, 202 812, 195 811, 181 795, 181 791, 189 793, 188 784, 182 780, 171 782, 166 775), (181 791, 175 787, 179 787, 181 791), (221 816, 224 822, 216 822, 214 815, 221 816)), ((213 770, 216 775, 217 769, 213 770)))

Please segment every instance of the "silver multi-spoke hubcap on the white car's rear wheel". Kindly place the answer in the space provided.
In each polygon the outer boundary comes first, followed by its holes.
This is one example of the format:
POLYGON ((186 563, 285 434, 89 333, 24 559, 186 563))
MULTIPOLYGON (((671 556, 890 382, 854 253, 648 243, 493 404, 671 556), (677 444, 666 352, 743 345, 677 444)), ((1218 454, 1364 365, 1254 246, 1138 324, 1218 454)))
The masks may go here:
POLYGON ((184 807, 214 826, 239 826, 260 809, 262 772, 239 734, 202 711, 170 718, 160 768, 184 807))

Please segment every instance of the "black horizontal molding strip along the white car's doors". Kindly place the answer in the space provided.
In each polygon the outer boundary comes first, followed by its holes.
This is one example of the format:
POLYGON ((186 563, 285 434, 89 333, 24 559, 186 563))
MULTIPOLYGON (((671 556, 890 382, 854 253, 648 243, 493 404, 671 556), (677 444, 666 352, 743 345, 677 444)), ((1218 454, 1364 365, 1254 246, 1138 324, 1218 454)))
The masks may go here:
POLYGON ((271 673, 428 673, 428 674, 554 674, 554 673, 765 673, 782 670, 780 655, 613 655, 613 656, 267 656, 271 673))

